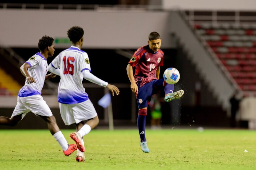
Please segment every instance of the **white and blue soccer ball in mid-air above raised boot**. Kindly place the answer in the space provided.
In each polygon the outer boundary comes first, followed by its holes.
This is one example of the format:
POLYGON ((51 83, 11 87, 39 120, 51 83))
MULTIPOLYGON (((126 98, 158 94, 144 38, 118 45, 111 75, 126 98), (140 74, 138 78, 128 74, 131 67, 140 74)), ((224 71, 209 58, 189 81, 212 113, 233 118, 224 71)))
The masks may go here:
POLYGON ((167 68, 164 71, 164 81, 168 84, 175 84, 180 80, 180 73, 176 68, 167 68))

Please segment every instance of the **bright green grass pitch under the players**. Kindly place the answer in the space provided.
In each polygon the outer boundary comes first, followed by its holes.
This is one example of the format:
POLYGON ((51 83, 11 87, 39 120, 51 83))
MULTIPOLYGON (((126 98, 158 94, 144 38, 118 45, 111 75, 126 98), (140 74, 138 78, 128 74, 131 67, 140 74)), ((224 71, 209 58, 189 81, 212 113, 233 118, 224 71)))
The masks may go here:
MULTIPOLYGON (((72 130, 62 130, 68 142, 72 130)), ((138 131, 92 130, 84 137, 86 158, 64 156, 48 130, 0 130, 0 169, 255 170, 256 132, 250 130, 146 130, 150 153, 138 131), (247 150, 248 152, 244 152, 247 150)))

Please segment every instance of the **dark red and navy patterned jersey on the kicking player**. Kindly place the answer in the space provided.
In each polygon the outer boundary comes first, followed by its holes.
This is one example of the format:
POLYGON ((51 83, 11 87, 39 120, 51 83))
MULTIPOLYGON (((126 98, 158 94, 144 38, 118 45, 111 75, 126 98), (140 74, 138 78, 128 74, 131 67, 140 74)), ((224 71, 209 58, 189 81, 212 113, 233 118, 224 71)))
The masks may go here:
POLYGON ((135 67, 134 79, 139 88, 152 80, 158 79, 156 78, 156 69, 163 66, 163 60, 164 52, 161 49, 155 53, 149 48, 149 45, 137 49, 129 64, 135 67))

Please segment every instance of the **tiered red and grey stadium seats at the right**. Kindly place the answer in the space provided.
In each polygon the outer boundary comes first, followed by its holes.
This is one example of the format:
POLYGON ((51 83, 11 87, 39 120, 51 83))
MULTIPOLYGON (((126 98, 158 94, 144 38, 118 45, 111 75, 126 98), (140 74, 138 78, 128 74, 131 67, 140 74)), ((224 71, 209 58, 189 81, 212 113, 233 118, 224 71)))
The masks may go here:
POLYGON ((194 23, 196 34, 209 46, 244 93, 256 95, 256 24, 252 22, 194 23))

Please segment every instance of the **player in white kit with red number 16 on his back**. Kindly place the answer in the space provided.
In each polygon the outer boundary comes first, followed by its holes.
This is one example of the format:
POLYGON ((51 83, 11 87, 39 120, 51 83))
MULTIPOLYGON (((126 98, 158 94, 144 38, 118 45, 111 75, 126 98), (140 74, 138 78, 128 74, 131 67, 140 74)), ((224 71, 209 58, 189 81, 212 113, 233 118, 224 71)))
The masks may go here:
POLYGON ((66 125, 76 124, 77 132, 72 132, 70 137, 77 144, 76 160, 84 162, 85 148, 82 137, 98 125, 99 118, 88 94, 85 92, 82 80, 85 78, 108 88, 113 96, 114 94, 119 95, 119 89, 90 73, 88 55, 81 50, 84 42, 84 30, 75 26, 71 27, 67 34, 72 46, 54 58, 49 64, 48 70, 61 77, 58 89, 61 117, 66 125), (84 123, 85 120, 88 120, 86 124, 84 123))

